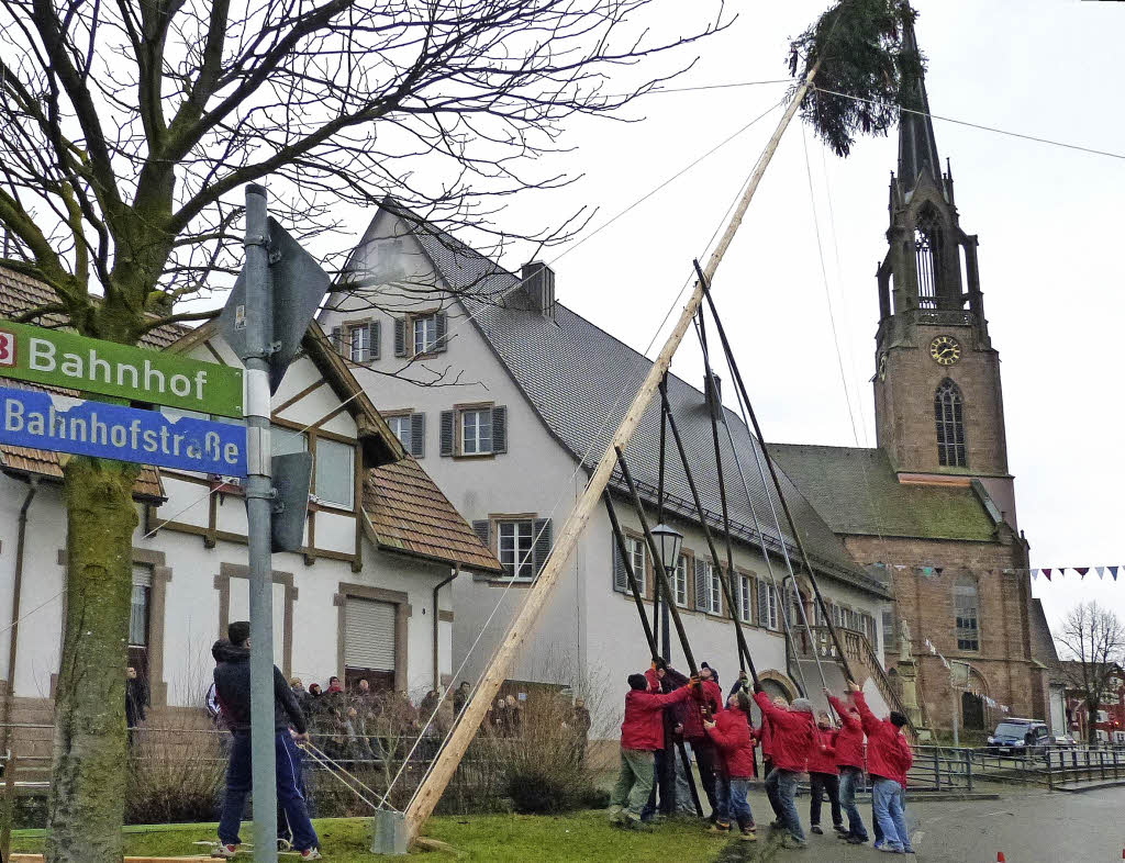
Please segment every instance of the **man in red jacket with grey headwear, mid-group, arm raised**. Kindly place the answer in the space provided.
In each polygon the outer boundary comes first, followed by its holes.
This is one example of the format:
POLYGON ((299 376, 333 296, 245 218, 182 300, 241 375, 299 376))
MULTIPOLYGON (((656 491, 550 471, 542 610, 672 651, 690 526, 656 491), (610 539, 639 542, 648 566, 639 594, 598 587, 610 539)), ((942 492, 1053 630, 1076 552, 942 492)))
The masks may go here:
MULTIPOLYGON (((803 848, 804 830, 796 814, 796 783, 806 771, 809 747, 812 746, 812 705, 807 698, 795 698, 788 710, 775 706, 759 684, 754 685, 754 700, 770 723, 774 767, 766 776, 766 796, 781 826, 789 830, 786 848, 803 848)), ((775 821, 776 824, 776 821, 775 821)))

